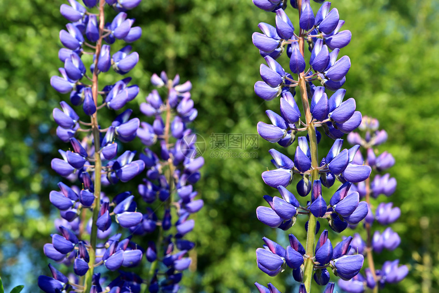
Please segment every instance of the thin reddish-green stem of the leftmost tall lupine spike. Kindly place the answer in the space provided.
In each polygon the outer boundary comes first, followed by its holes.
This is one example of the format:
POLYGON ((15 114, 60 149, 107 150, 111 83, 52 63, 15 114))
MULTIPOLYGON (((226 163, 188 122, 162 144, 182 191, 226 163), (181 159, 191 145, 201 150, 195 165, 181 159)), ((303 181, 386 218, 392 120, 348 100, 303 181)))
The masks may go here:
MULTIPOLYGON (((97 79, 97 62, 99 61, 99 56, 102 48, 102 39, 104 34, 104 26, 105 26, 105 16, 104 16, 104 5, 105 0, 100 0, 99 2, 99 39, 96 42, 95 49, 95 61, 94 61, 94 71, 92 76, 92 86, 91 92, 93 95, 94 104, 97 107, 97 92, 98 92, 98 79, 97 79)), ((84 280, 84 290, 83 292, 88 292, 91 288, 93 271, 94 271, 94 262, 96 260, 96 238, 97 238, 97 226, 96 221, 99 216, 99 211, 101 210, 101 153, 99 152, 101 149, 101 133, 99 131, 99 124, 97 123, 97 112, 95 112, 91 116, 91 131, 93 133, 93 141, 94 141, 94 204, 93 204, 93 216, 91 222, 91 233, 90 233, 90 249, 88 250, 88 254, 90 257, 90 261, 88 263, 88 271, 85 275, 84 280)))

